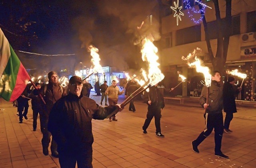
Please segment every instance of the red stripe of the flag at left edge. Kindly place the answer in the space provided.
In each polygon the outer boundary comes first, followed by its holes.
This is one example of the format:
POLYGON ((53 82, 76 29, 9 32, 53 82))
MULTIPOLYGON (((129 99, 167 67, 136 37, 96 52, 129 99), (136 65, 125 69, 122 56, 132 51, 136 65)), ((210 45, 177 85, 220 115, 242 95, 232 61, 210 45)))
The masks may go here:
POLYGON ((30 76, 28 75, 28 72, 20 62, 20 68, 17 74, 16 84, 12 91, 10 102, 13 102, 22 94, 29 80, 30 80, 30 76))

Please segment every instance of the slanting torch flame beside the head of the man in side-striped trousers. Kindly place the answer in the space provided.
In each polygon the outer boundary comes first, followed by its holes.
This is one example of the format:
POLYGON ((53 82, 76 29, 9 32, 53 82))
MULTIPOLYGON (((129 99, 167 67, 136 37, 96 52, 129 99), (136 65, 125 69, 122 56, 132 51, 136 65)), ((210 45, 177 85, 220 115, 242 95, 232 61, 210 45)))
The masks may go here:
POLYGON ((212 80, 212 75, 210 74, 210 69, 207 66, 202 66, 201 60, 195 57, 195 62, 188 63, 188 66, 192 68, 196 68, 196 72, 200 72, 204 74, 204 81, 205 81, 205 86, 210 87, 211 86, 211 80, 212 80))

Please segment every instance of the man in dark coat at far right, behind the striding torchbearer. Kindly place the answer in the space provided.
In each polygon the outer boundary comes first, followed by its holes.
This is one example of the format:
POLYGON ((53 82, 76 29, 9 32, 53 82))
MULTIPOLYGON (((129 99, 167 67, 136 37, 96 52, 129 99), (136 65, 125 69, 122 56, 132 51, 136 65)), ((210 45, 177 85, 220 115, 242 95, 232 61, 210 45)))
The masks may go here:
POLYGON ((228 77, 223 85, 223 109, 226 112, 226 117, 224 121, 224 132, 229 134, 232 130, 229 129, 230 122, 233 118, 233 113, 236 113, 236 102, 235 95, 238 94, 242 88, 234 88, 236 79, 233 76, 228 77))

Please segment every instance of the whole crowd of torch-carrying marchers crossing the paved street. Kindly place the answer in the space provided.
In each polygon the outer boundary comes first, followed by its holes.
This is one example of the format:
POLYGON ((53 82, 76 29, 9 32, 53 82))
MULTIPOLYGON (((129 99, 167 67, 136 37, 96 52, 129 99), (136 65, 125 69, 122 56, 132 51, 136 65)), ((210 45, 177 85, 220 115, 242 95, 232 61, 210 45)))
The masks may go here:
MULTIPOLYGON (((122 111, 118 104, 118 96, 124 93, 128 98, 140 86, 132 79, 125 88, 120 91, 113 80, 111 86, 107 81, 98 86, 98 96, 102 96, 100 105, 90 98, 93 88, 88 80, 82 80, 78 76, 72 76, 68 86, 63 87, 58 82, 58 74, 54 71, 48 73, 48 84, 36 83, 35 88, 28 84, 24 92, 14 103, 18 107, 19 122, 28 119, 28 101, 31 100, 33 110, 33 131, 37 130, 37 118, 40 117, 40 130, 42 132, 42 151, 49 154, 49 144, 52 156, 59 158, 60 166, 65 168, 92 167, 92 119, 117 121, 116 113, 122 111), (102 106, 102 102, 105 106, 102 106), (108 104, 107 104, 108 102, 108 104), (52 137, 52 138, 51 138, 52 137)), ((235 78, 230 76, 223 84, 220 72, 212 72, 210 88, 204 86, 200 96, 200 104, 204 110, 205 126, 198 138, 192 142, 192 149, 199 153, 199 144, 215 131, 215 155, 228 158, 221 151, 223 132, 229 134, 230 122, 236 111, 235 95, 241 88, 235 88, 235 78), (206 103, 206 97, 208 102, 206 103), (226 112, 223 122, 222 110, 226 112)), ((95 89, 96 90, 96 89, 95 89)), ((166 89, 165 89, 166 90, 166 89)), ((170 91, 166 90, 166 91, 170 91)), ((150 87, 144 95, 144 102, 148 105, 146 120, 142 126, 142 132, 147 134, 147 128, 154 118, 156 136, 164 138, 161 132, 161 111, 164 108, 164 92, 158 84, 150 87)), ((134 100, 130 101, 129 111, 135 112, 134 100)))

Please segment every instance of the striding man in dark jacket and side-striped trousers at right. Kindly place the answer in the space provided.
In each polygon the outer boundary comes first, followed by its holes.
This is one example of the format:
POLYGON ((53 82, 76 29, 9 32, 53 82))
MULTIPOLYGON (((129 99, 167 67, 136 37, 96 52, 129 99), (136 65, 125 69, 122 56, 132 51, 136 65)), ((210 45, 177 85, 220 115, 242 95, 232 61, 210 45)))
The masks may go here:
POLYGON ((201 106, 206 109, 206 113, 204 114, 205 128, 198 138, 192 142, 192 148, 194 152, 199 153, 198 145, 211 134, 214 128, 215 156, 228 159, 228 156, 224 155, 220 150, 224 130, 222 115, 223 95, 220 72, 214 71, 212 73, 212 83, 209 88, 208 104, 206 103, 206 94, 207 88, 204 86, 199 101, 201 106))

